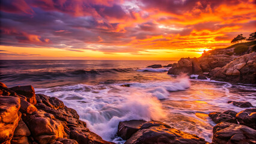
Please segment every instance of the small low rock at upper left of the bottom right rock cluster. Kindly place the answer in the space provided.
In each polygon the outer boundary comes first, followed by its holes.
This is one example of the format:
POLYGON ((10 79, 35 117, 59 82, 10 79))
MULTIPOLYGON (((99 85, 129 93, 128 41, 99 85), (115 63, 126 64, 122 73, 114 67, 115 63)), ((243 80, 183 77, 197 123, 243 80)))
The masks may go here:
POLYGON ((209 113, 209 117, 216 124, 218 124, 219 122, 231 122, 231 123, 237 124, 236 117, 234 117, 232 115, 228 115, 226 113, 212 112, 212 113, 209 113))

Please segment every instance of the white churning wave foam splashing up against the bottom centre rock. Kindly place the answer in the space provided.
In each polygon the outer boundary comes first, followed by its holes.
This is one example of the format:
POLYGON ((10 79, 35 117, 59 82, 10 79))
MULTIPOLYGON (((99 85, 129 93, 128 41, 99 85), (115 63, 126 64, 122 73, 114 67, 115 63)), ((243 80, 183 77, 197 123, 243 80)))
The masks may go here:
POLYGON ((165 118, 160 99, 168 98, 169 91, 189 88, 188 77, 177 77, 172 82, 130 83, 130 87, 111 85, 58 86, 35 89, 37 93, 58 97, 68 107, 76 109, 90 130, 105 140, 112 140, 120 121, 165 118))

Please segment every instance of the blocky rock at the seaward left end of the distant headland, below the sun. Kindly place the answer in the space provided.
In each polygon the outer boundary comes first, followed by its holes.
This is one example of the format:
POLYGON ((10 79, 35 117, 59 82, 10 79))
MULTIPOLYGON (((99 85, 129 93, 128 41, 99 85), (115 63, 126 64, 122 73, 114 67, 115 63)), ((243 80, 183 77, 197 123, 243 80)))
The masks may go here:
POLYGON ((168 74, 203 74, 197 58, 181 58, 177 64, 173 64, 168 74))

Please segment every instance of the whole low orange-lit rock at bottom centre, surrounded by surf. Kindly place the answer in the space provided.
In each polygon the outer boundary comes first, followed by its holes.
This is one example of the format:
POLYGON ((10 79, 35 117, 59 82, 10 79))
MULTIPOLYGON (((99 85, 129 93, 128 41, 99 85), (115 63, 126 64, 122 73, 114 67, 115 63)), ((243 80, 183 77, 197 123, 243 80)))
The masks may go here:
POLYGON ((195 134, 179 131, 159 121, 132 120, 120 122, 118 136, 130 143, 207 143, 195 134))

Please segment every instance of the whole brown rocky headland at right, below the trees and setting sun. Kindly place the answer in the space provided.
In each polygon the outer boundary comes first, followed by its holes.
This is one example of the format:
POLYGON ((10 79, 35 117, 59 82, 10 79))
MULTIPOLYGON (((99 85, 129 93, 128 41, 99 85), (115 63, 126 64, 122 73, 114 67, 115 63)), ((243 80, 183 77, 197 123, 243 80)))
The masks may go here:
MULTIPOLYGON (((256 83, 256 41, 242 43, 248 50, 236 53, 234 44, 225 49, 204 52, 200 58, 181 58, 169 69, 168 74, 199 74, 211 80, 231 83, 256 83)), ((204 77, 202 79, 205 79, 204 77)))

